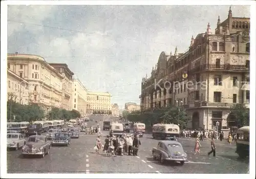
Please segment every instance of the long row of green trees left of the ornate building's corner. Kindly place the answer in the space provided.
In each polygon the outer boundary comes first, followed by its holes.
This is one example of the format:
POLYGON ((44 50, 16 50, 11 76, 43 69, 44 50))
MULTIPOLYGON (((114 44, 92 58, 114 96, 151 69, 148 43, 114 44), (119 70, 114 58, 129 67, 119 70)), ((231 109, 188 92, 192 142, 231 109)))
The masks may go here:
POLYGON ((152 111, 144 111, 143 113, 133 111, 127 114, 127 120, 142 122, 145 123, 146 126, 152 126, 157 123, 179 123, 181 128, 185 128, 187 125, 187 114, 182 106, 167 106, 164 108, 156 108, 152 111))

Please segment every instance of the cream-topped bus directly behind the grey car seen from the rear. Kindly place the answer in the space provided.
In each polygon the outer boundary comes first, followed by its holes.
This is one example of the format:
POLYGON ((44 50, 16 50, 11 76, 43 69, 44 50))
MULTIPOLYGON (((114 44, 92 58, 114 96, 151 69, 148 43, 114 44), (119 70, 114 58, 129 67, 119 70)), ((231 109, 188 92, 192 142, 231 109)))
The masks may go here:
POLYGON ((155 124, 152 127, 153 139, 173 138, 180 136, 180 127, 176 124, 155 124))

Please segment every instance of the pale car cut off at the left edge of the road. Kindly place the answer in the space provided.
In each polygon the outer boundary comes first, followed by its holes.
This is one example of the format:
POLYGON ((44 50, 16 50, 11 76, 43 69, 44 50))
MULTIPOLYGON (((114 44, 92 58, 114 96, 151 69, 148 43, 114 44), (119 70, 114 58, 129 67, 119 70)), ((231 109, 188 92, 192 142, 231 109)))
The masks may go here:
POLYGON ((26 140, 21 133, 7 133, 7 148, 18 150, 25 144, 26 140))

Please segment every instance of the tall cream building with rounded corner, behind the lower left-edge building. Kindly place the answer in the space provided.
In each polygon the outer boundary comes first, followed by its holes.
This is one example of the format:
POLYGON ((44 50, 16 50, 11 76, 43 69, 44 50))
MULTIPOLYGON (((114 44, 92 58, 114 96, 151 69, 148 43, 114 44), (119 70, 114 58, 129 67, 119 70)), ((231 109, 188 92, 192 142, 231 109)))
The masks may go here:
POLYGON ((8 54, 8 69, 29 82, 32 103, 41 105, 46 112, 61 106, 64 78, 46 60, 37 55, 8 54))

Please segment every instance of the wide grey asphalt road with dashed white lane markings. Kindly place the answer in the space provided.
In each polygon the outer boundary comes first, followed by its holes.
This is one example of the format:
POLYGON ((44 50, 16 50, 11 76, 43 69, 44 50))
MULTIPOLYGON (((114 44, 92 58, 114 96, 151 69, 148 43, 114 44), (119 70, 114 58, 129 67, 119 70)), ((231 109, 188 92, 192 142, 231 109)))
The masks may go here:
MULTIPOLYGON (((93 117, 94 118, 94 117, 93 117)), ((96 116, 95 119, 102 128, 107 116, 96 116), (102 121, 101 121, 102 119, 102 121)), ((90 125, 97 125, 90 122, 90 125)), ((102 129, 101 129, 102 130, 102 129)), ((102 131, 102 136, 109 131, 102 131)), ((194 155, 195 141, 179 139, 188 154, 188 161, 183 165, 160 164, 153 161, 152 148, 158 143, 152 135, 145 134, 141 140, 139 156, 107 157, 102 152, 93 150, 97 135, 80 133, 79 139, 72 139, 69 147, 52 147, 50 154, 44 159, 23 158, 18 151, 7 152, 8 173, 247 173, 248 158, 239 160, 234 153, 235 145, 226 141, 217 141, 217 156, 208 156, 210 141, 201 142, 201 155, 194 155)), ((102 137, 102 141, 104 141, 102 137)))

